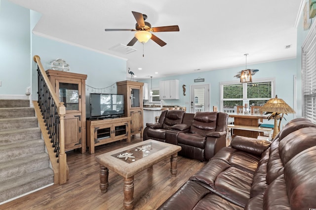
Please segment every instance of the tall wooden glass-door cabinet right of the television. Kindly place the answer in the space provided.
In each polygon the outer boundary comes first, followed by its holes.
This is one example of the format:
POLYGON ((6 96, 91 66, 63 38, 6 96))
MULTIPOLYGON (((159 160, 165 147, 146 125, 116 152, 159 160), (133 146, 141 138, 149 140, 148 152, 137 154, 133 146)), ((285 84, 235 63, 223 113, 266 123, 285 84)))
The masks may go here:
POLYGON ((124 94, 125 117, 131 117, 130 134, 143 137, 143 85, 134 81, 117 82, 118 94, 124 94))

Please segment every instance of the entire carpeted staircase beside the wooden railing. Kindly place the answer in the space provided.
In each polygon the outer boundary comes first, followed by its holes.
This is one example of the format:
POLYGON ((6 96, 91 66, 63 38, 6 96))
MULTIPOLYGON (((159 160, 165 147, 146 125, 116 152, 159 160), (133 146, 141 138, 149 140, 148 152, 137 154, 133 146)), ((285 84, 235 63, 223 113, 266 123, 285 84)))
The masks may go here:
POLYGON ((54 183, 29 100, 0 100, 0 203, 54 183))

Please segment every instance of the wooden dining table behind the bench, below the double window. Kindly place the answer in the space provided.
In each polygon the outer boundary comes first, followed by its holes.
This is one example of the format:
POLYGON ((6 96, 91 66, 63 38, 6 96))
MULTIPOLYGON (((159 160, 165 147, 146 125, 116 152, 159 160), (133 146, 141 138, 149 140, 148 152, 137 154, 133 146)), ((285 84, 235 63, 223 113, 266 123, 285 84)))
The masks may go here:
MULTIPOLYGON (((234 118, 235 125, 245 125, 259 127, 260 120, 268 119, 267 115, 250 115, 250 114, 230 114, 229 117, 234 118)), ((258 131, 234 129, 233 135, 257 138, 262 135, 258 131)))

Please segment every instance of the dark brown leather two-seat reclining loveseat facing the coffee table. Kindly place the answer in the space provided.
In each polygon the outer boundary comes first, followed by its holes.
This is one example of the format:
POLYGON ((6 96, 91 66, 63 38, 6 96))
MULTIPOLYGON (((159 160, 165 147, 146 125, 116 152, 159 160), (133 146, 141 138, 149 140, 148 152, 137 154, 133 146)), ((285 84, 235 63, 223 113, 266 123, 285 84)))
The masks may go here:
POLYGON ((179 145, 179 155, 209 160, 221 148, 226 147, 228 114, 222 112, 184 113, 165 110, 157 123, 147 123, 143 140, 154 139, 179 145))

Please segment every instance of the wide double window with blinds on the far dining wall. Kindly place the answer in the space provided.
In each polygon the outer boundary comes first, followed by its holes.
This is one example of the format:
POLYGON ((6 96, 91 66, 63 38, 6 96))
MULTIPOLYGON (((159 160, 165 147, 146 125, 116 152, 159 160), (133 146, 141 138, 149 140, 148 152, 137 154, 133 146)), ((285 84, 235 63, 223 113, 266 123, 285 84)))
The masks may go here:
POLYGON ((273 97, 275 79, 257 80, 253 83, 221 83, 220 110, 235 113, 237 106, 263 106, 273 97))

